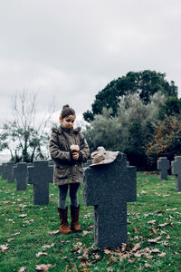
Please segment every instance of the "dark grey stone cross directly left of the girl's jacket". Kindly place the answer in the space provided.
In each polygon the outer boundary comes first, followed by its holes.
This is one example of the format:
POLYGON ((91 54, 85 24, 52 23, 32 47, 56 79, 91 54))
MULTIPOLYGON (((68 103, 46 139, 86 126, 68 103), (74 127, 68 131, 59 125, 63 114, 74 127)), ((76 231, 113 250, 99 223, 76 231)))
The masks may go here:
POLYGON ((28 183, 33 184, 34 205, 49 204, 49 182, 52 182, 53 167, 48 160, 34 160, 28 166, 28 183))

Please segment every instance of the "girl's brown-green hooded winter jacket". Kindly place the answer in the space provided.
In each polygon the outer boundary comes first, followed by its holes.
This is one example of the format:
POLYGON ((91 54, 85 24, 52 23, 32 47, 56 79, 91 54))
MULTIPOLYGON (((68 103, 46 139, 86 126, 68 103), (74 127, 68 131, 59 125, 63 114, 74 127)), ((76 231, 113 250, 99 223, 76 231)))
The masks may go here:
POLYGON ((49 150, 51 158, 55 162, 53 172, 53 183, 55 185, 82 182, 82 162, 88 159, 90 149, 80 131, 81 128, 76 130, 62 126, 52 128, 49 150), (71 144, 79 145, 81 161, 71 159, 71 144))

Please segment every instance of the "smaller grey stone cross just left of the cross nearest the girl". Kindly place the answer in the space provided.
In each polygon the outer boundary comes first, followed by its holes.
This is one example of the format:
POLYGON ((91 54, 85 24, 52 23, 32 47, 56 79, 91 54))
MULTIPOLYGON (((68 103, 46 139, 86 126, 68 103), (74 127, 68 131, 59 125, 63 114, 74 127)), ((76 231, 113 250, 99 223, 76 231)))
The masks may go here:
POLYGON ((14 166, 14 178, 16 179, 16 189, 25 190, 27 185, 27 164, 19 162, 14 166))

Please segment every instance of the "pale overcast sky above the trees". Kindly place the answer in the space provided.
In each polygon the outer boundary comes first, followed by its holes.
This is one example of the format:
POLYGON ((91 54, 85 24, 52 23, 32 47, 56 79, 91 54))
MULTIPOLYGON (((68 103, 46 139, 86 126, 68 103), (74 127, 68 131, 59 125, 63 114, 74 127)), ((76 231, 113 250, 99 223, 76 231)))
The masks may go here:
POLYGON ((181 96, 180 0, 0 0, 0 124, 11 95, 38 92, 39 116, 55 97, 80 117, 129 71, 167 73, 181 96))

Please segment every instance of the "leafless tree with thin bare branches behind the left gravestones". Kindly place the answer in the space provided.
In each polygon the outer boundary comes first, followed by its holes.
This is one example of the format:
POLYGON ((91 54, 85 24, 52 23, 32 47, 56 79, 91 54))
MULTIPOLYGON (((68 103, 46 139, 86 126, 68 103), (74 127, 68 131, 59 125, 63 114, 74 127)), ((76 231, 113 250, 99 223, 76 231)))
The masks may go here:
POLYGON ((4 123, 0 136, 0 150, 9 150, 11 160, 28 162, 48 158, 46 129, 54 112, 54 102, 38 118, 36 98, 37 93, 30 94, 25 90, 12 97, 14 121, 4 123))

